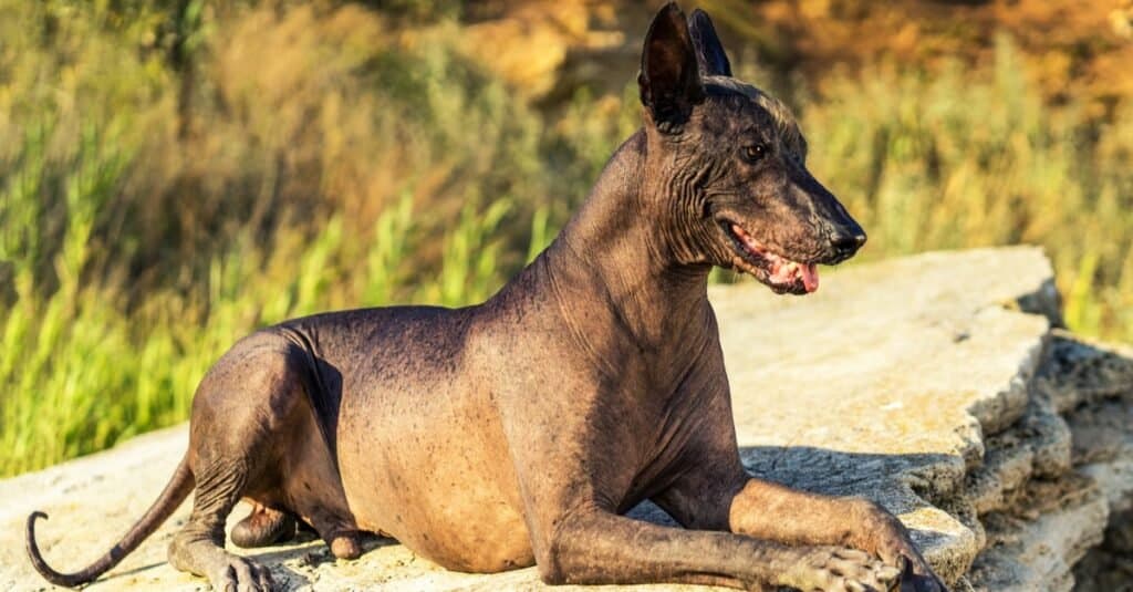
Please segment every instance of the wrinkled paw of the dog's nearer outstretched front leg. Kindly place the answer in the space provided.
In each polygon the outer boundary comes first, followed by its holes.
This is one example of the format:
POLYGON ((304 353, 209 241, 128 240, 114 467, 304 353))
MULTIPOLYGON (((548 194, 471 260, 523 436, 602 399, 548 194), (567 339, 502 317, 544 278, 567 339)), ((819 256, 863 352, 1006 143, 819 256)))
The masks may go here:
POLYGON ((888 592, 896 590, 901 569, 864 551, 842 547, 799 549, 799 559, 783 573, 778 585, 824 592, 888 592))

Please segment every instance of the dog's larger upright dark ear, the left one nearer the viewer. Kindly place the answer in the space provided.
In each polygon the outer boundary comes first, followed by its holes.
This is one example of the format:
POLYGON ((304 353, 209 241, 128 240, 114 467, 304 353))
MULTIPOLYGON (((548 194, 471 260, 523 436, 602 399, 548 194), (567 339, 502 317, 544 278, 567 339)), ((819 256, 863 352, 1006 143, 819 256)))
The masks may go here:
POLYGON ((673 2, 665 5, 649 25, 638 87, 641 104, 649 110, 657 129, 665 134, 680 134, 692 107, 704 101, 689 25, 673 2))

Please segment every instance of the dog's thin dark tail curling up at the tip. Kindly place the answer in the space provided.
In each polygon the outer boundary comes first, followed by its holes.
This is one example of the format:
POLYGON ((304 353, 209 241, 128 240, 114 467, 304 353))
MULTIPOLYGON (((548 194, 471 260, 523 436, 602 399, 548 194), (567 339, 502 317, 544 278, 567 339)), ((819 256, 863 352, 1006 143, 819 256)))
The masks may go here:
POLYGON ((157 496, 156 501, 150 506, 150 509, 134 524, 129 532, 118 541, 118 544, 113 546, 93 564, 71 574, 56 572, 43 560, 43 555, 40 553, 40 546, 35 542, 35 521, 40 518, 46 519, 48 515, 42 511, 33 511, 27 517, 27 556, 32 559, 35 570, 52 584, 75 587, 93 582, 100 575, 118 565, 130 551, 137 549, 137 546, 142 541, 153 534, 153 531, 156 531, 157 526, 161 526, 165 522, 165 518, 169 518, 169 515, 185 501, 190 491, 193 491, 193 473, 189 471, 188 457, 186 457, 177 466, 177 471, 173 472, 172 479, 169 480, 169 484, 165 485, 161 496, 157 496))

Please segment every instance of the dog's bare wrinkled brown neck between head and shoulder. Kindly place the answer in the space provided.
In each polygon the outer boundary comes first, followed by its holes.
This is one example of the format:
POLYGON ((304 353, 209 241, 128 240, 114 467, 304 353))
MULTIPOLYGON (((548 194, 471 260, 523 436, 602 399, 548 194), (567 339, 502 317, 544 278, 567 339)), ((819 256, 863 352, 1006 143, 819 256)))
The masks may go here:
MULTIPOLYGON (((659 346, 702 324, 706 264, 679 262, 675 229, 656 220, 648 139, 631 136, 603 169, 586 203, 544 254, 565 293, 607 304, 641 346, 659 346)), ((570 304, 570 303, 569 303, 570 304)))

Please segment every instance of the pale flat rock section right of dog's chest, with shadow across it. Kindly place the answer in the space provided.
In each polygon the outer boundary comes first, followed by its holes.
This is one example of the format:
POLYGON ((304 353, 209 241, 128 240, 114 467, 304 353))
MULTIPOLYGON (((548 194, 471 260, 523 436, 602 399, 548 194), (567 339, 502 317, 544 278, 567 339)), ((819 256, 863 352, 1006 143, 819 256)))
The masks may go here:
POLYGON ((1023 414, 1049 328, 1019 302, 1051 277, 1039 250, 981 250, 840 271, 802 299, 714 291, 748 468, 883 504, 955 581, 983 546, 966 473, 1023 414))

